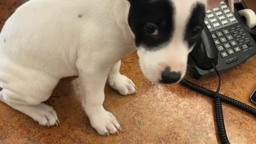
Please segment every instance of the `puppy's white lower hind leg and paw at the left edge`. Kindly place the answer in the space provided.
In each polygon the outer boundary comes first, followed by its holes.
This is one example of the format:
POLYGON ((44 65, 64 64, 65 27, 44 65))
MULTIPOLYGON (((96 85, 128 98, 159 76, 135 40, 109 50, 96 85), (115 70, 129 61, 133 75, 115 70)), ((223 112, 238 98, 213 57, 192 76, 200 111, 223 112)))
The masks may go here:
POLYGON ((6 103, 17 111, 32 117, 33 120, 37 121, 41 126, 58 125, 58 117, 53 107, 45 105, 44 103, 41 103, 41 101, 39 104, 33 105, 34 103, 16 99, 18 97, 15 95, 14 92, 3 89, 0 92, 0 101, 3 101, 3 103, 6 103))

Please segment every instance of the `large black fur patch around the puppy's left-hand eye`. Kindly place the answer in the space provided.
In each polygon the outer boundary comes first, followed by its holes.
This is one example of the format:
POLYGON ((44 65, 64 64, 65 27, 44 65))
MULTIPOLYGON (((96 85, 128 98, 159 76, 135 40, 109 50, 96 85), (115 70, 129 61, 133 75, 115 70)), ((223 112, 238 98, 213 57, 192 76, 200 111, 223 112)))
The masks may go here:
POLYGON ((135 34, 137 46, 144 45, 148 50, 171 41, 174 31, 173 5, 169 0, 150 2, 148 0, 130 0, 128 22, 135 34), (145 25, 151 23, 158 26, 159 35, 154 37, 145 31, 145 25))

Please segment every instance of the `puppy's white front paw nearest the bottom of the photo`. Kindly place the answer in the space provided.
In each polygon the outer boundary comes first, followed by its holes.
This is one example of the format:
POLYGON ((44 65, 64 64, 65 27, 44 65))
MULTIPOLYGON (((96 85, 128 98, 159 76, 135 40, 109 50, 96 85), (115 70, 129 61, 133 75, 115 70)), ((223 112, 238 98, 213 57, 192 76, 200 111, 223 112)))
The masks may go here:
POLYGON ((94 113, 89 117, 91 126, 100 135, 116 134, 121 131, 121 127, 116 120, 116 117, 108 111, 102 111, 100 113, 94 113))

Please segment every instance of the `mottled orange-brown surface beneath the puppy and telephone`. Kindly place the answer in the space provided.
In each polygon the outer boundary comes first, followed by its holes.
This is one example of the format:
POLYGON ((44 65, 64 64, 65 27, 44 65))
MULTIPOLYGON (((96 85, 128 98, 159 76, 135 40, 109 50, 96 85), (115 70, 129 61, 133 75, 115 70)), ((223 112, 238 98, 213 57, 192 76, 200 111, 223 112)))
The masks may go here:
MULTIPOLYGON (((0 0, 0 27, 14 9, 26 0, 0 0)), ((246 1, 256 10, 256 2, 246 1)), ((102 137, 91 128, 79 101, 75 77, 62 79, 46 103, 53 105, 60 125, 39 126, 32 118, 0 103, 0 143, 220 143, 217 140, 213 101, 180 84, 151 84, 140 72, 136 54, 123 60, 121 72, 137 84, 137 94, 120 96, 106 86, 104 107, 116 115, 123 132, 102 137)), ((248 105, 256 87, 256 56, 221 74, 221 94, 248 105)), ((211 90, 217 77, 196 81, 211 90)), ((256 118, 230 105, 223 105, 226 130, 231 143, 255 143, 256 118)))

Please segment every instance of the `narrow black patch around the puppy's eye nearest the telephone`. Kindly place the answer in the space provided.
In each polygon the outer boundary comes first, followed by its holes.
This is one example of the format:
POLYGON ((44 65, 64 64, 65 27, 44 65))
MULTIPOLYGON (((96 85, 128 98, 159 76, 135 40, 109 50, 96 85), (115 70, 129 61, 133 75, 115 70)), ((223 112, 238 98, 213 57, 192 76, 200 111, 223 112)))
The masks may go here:
POLYGON ((201 3, 197 3, 186 26, 184 37, 190 48, 200 39, 200 34, 204 26, 204 18, 205 6, 201 3))

